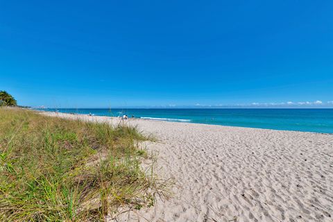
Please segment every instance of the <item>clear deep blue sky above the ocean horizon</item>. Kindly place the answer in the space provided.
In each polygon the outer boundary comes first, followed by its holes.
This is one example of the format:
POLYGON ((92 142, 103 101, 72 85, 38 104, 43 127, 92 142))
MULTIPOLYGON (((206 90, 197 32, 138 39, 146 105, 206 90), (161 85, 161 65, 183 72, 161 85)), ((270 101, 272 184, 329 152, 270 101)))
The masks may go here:
POLYGON ((58 108, 333 107, 333 1, 0 1, 1 89, 58 108))

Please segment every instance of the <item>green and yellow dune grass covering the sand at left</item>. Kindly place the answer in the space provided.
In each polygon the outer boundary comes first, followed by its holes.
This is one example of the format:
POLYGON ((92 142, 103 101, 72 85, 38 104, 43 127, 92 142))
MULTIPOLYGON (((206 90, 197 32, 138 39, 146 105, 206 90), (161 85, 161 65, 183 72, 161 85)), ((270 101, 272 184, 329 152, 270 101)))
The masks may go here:
POLYGON ((0 119, 0 221, 105 221, 163 194, 136 128, 8 108, 0 119))

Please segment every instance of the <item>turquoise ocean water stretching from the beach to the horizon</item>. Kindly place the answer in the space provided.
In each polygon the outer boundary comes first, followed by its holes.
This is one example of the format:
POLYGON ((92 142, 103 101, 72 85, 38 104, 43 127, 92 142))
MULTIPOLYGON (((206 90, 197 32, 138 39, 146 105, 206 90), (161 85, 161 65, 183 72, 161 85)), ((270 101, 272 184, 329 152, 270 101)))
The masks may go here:
POLYGON ((298 130, 333 133, 333 109, 43 109, 89 114, 95 116, 128 117, 241 126, 274 130, 298 130))

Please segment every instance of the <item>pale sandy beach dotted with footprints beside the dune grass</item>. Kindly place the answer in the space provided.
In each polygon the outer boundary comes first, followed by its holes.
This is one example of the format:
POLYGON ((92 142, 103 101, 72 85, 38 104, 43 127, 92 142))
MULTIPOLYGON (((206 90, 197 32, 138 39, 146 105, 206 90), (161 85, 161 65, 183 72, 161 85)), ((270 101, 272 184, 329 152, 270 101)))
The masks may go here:
MULTIPOLYGON (((67 118, 119 119, 55 114, 67 118)), ((128 121, 160 142, 174 196, 119 221, 333 221, 333 135, 195 123, 128 121)))

